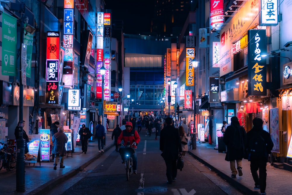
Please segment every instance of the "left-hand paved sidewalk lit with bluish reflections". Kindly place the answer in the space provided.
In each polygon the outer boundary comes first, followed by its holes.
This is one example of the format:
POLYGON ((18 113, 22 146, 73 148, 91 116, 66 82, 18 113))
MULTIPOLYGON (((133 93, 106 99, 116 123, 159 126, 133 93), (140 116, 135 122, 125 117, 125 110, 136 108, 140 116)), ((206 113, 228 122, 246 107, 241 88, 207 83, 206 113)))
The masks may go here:
MULTIPOLYGON (((106 134, 106 145, 104 151, 109 150, 114 142, 112 141, 112 129, 106 134)), ((76 175, 79 171, 92 163, 94 160, 102 156, 103 153, 98 153, 98 141, 93 139, 88 143, 87 153, 82 153, 81 145, 74 149, 73 155, 69 153, 69 157, 64 158, 65 168, 60 169, 60 164, 57 165, 57 170, 53 170, 54 162, 35 163, 34 167, 31 163, 25 163, 25 192, 16 192, 16 172, 15 170, 8 172, 1 170, 1 194, 44 194, 46 191, 54 188, 61 182, 68 180, 76 175)))

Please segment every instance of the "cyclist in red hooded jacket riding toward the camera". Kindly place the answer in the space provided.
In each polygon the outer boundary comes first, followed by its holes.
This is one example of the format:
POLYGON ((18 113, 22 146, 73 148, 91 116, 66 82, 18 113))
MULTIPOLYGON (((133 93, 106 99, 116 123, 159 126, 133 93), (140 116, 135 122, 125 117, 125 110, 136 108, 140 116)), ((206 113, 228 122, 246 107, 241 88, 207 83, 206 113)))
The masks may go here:
MULTIPOLYGON (((137 145, 140 142, 140 136, 138 132, 133 129, 132 122, 126 122, 126 129, 121 132, 120 136, 118 137, 117 144, 120 145, 122 140, 124 140, 125 146, 127 145, 128 141, 130 141, 130 145, 135 149, 137 148, 137 145)), ((133 174, 137 174, 138 161, 136 152, 133 154, 132 158, 133 158, 133 174)))

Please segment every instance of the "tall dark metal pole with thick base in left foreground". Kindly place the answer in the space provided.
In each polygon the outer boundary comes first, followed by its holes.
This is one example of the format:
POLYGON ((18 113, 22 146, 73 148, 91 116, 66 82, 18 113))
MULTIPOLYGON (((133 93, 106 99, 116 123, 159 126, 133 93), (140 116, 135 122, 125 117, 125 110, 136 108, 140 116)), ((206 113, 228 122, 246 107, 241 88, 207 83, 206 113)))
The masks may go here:
MULTIPOLYGON (((20 19, 20 47, 23 43, 23 28, 24 28, 24 11, 25 11, 25 1, 21 0, 21 19, 20 19)), ((21 47, 22 49, 22 47, 21 47)), ((23 84, 22 84, 22 66, 21 66, 21 57, 20 57, 20 66, 19 66, 19 125, 18 125, 18 139, 16 140, 17 145, 17 160, 16 160, 16 191, 23 192, 25 191, 25 177, 24 177, 24 150, 25 150, 25 140, 23 139, 23 84)), ((25 75, 26 76, 26 75, 25 75)))

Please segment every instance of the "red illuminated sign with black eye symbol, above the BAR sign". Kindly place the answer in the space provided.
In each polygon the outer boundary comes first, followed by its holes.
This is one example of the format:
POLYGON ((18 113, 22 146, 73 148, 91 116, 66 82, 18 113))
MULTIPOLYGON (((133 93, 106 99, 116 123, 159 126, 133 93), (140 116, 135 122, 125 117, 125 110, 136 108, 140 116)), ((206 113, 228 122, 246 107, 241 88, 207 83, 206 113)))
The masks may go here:
POLYGON ((58 60, 60 57, 60 33, 47 32, 47 60, 58 60))

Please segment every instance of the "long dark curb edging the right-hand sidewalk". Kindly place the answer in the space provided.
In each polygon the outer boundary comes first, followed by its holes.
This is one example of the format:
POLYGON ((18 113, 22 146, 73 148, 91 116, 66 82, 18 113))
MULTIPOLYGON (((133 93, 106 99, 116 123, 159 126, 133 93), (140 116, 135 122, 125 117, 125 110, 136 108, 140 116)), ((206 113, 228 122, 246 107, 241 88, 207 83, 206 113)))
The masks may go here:
POLYGON ((207 161, 203 160, 202 158, 200 158, 199 156, 195 155, 194 153, 192 153, 190 151, 187 151, 187 153, 190 154, 195 159, 197 159, 199 162, 201 162, 204 165, 206 165, 207 167, 209 167, 214 172, 216 172, 220 177, 222 177, 224 180, 226 180, 228 183, 230 183, 233 187, 236 187, 237 189, 239 189, 240 191, 242 191, 242 192, 244 192, 246 194, 258 194, 258 192, 253 191, 253 190, 249 189, 248 187, 244 186, 243 184, 237 182, 236 180, 234 180, 230 176, 226 175, 222 171, 218 170, 213 165, 209 164, 207 161))

